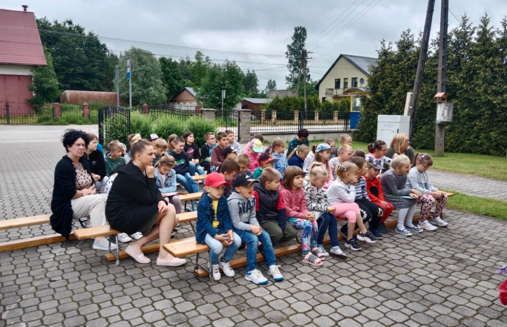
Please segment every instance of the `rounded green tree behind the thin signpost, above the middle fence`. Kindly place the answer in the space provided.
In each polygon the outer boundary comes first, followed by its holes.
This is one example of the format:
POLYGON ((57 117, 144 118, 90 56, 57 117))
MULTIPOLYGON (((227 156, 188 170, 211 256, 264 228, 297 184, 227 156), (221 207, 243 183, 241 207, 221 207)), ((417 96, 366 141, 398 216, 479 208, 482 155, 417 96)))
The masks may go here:
POLYGON ((243 96, 243 78, 244 74, 235 61, 213 64, 198 88, 198 97, 204 106, 219 109, 222 107, 222 90, 226 90, 224 108, 233 108, 243 96))

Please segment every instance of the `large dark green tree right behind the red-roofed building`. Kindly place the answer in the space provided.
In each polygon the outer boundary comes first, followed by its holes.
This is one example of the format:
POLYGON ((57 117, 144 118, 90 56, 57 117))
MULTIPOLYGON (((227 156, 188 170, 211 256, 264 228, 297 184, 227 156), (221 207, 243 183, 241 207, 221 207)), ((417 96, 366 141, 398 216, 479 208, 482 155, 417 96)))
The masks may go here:
POLYGON ((106 76, 111 74, 107 47, 100 43, 96 34, 85 33, 83 26, 69 19, 60 23, 44 17, 37 20, 37 26, 41 30, 42 44, 52 55, 56 77, 63 89, 104 91, 113 88, 113 81, 106 76))

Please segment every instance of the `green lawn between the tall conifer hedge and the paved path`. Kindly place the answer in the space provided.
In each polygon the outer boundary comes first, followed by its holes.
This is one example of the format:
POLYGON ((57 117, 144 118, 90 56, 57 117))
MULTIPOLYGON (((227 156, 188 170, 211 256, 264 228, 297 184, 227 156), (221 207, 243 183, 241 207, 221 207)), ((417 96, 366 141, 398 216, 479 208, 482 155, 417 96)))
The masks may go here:
MULTIPOLYGON (((310 142, 310 148, 313 144, 321 143, 322 141, 310 142)), ((288 147, 288 143, 287 143, 288 147)), ((352 141, 353 149, 364 149, 368 152, 368 143, 352 141)), ((426 152, 433 156, 433 150, 420 150, 416 152, 426 152)), ((487 155, 476 155, 470 153, 450 153, 446 152, 444 157, 432 157, 433 167, 442 171, 449 171, 458 174, 475 175, 480 177, 488 177, 493 179, 507 180, 507 158, 496 157, 487 155)))

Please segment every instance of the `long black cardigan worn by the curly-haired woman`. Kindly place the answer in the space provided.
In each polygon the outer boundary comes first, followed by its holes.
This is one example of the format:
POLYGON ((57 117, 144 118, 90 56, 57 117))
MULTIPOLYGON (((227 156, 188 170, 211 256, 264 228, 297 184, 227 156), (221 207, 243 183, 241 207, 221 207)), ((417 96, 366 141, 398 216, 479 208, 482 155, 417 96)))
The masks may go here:
MULTIPOLYGON (((83 157, 79 159, 83 168, 91 174, 88 161, 83 157)), ((92 178, 92 184, 95 181, 92 178)), ((50 217, 51 227, 57 233, 68 239, 72 231, 72 205, 70 200, 76 195, 76 169, 72 160, 66 155, 58 161, 55 167, 55 183, 53 187, 53 198, 51 199, 50 217)))

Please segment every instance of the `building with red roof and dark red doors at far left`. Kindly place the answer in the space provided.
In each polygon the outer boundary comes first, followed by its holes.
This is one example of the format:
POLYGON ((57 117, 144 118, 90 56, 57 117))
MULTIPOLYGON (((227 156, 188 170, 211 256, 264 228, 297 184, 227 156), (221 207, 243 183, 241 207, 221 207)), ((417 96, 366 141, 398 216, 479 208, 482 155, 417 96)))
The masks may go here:
POLYGON ((0 9, 0 117, 33 114, 26 99, 32 83, 32 69, 46 66, 37 22, 33 12, 0 9))

